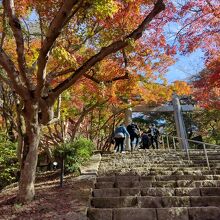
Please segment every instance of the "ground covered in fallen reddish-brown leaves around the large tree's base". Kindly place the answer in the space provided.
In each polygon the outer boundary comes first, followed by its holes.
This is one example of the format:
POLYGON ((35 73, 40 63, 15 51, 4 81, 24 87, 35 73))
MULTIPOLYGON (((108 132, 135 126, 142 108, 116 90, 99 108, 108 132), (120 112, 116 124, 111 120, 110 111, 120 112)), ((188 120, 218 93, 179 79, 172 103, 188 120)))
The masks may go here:
POLYGON ((36 181, 36 197, 31 203, 15 202, 17 187, 0 194, 0 219, 85 220, 92 185, 92 179, 71 174, 65 177, 64 187, 60 188, 58 173, 41 175, 36 181))

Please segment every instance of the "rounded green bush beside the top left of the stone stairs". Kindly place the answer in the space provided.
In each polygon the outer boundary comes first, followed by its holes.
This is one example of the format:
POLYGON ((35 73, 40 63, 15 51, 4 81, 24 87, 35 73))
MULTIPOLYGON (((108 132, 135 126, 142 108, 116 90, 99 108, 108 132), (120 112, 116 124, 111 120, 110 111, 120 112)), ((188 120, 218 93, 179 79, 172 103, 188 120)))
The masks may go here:
POLYGON ((94 147, 91 140, 79 137, 74 141, 56 147, 54 156, 58 160, 65 159, 66 171, 75 172, 78 171, 81 164, 91 157, 94 147))

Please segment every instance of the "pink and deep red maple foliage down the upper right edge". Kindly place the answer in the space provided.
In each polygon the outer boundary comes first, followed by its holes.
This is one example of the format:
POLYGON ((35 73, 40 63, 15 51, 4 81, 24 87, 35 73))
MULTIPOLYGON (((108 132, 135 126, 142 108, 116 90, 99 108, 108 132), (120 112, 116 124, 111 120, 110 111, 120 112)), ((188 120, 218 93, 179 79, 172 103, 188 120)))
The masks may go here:
POLYGON ((201 106, 219 109, 219 1, 177 1, 176 5, 172 44, 183 54, 202 49, 206 68, 193 77, 193 93, 201 106))

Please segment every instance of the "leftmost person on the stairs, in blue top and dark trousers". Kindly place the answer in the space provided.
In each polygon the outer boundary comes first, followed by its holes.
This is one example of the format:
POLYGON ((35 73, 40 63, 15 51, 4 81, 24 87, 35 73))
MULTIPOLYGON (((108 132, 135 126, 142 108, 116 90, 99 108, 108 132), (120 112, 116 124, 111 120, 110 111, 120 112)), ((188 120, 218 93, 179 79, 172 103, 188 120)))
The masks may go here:
POLYGON ((126 127, 123 124, 120 124, 116 129, 114 133, 114 139, 115 139, 115 152, 124 152, 124 141, 125 137, 130 137, 126 127))

